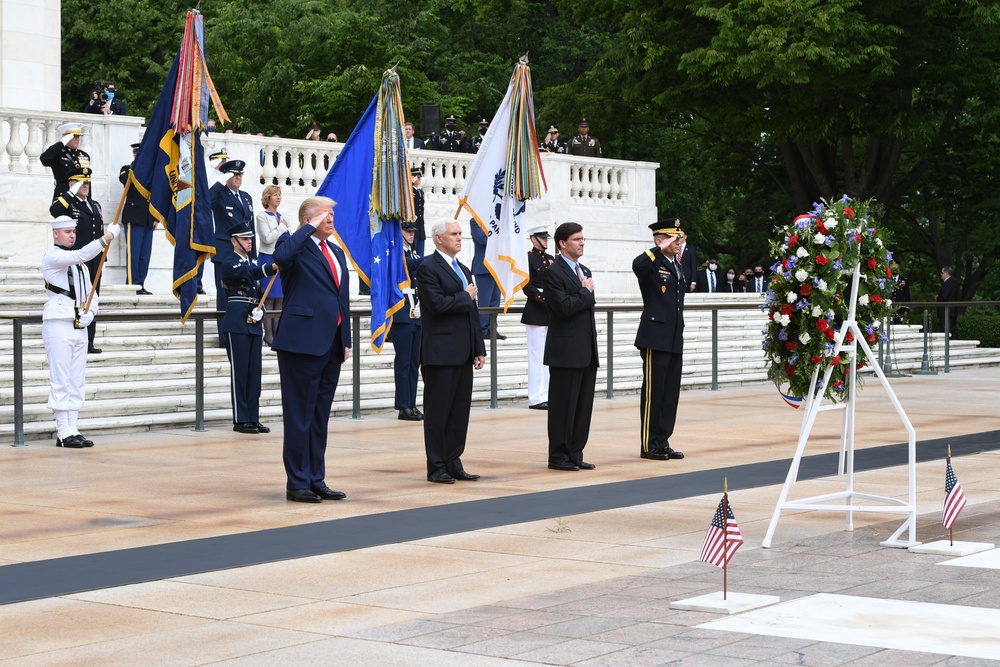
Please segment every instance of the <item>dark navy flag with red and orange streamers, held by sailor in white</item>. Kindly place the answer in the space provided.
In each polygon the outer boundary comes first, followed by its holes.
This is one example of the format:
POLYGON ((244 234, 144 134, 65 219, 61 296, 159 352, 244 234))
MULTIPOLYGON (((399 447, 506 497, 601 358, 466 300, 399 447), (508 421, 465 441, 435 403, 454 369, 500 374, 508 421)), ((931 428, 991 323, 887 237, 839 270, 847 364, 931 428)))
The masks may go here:
POLYGON ((215 254, 201 146, 209 100, 219 120, 229 120, 205 62, 205 19, 192 10, 125 186, 135 187, 149 200, 150 213, 174 246, 173 292, 180 299, 182 322, 198 302, 198 267, 215 254))

